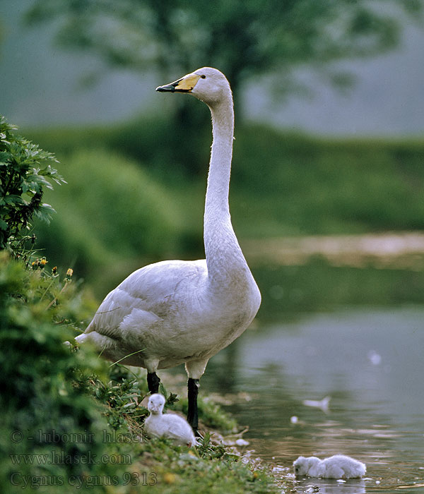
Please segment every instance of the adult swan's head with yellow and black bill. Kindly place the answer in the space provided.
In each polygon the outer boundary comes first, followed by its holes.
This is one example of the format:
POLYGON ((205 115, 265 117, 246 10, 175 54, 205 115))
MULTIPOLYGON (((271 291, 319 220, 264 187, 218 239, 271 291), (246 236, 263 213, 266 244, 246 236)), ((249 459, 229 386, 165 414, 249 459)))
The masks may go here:
POLYGON ((160 92, 189 92, 209 106, 224 100, 231 94, 224 74, 216 68, 203 67, 173 83, 159 86, 160 92))

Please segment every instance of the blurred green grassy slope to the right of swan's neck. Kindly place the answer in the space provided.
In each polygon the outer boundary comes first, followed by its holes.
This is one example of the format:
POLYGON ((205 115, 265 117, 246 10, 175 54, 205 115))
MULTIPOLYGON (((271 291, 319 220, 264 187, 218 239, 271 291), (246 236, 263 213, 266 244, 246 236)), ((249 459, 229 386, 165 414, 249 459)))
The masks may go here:
POLYGON ((423 161, 423 142, 324 140, 252 126, 235 140, 232 212, 245 210, 243 236, 423 229, 423 161))

